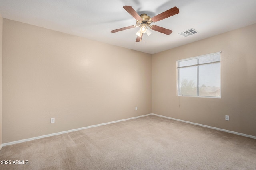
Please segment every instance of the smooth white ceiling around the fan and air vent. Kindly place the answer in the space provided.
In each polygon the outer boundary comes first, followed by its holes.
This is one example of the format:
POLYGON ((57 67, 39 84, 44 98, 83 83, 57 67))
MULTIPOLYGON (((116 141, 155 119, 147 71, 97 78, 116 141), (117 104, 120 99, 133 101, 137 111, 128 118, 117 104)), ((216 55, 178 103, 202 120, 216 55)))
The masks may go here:
POLYGON ((256 23, 256 0, 0 0, 0 14, 10 20, 154 54, 256 23), (174 6, 180 13, 154 23, 173 30, 172 34, 153 31, 136 43, 138 27, 110 33, 136 25, 122 8, 125 5, 151 17, 174 6), (189 37, 178 34, 190 28, 199 33, 189 37))

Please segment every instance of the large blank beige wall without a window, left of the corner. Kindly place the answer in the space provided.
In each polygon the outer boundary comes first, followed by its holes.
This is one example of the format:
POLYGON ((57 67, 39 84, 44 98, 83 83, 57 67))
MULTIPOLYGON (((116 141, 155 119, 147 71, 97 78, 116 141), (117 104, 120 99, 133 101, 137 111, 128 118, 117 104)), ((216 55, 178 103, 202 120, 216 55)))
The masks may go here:
POLYGON ((4 19, 2 142, 150 114, 151 71, 150 54, 4 19))

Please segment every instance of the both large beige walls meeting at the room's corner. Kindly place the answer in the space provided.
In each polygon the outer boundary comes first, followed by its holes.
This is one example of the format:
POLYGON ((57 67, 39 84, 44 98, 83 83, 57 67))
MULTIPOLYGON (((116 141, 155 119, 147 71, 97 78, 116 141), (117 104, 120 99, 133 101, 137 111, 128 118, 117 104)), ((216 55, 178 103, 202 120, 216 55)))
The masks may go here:
POLYGON ((255 30, 149 55, 4 19, 2 143, 149 113, 256 136, 255 30), (222 98, 178 97, 176 60, 218 51, 222 98))

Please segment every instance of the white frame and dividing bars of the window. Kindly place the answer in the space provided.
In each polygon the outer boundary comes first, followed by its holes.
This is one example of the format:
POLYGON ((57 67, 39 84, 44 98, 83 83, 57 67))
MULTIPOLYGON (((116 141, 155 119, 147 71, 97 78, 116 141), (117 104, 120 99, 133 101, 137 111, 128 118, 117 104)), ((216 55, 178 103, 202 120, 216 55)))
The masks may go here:
POLYGON ((181 59, 181 60, 177 60, 176 61, 176 69, 177 69, 177 96, 186 96, 186 97, 196 97, 196 98, 221 98, 222 94, 221 94, 221 51, 220 52, 216 52, 216 53, 210 53, 210 54, 206 54, 206 55, 200 55, 200 56, 196 56, 196 57, 190 57, 190 58, 186 58, 186 59, 181 59), (198 63, 198 59, 202 58, 202 57, 206 57, 206 56, 213 56, 213 55, 220 55, 220 61, 213 61, 213 62, 209 62, 209 63, 204 63, 204 64, 199 64, 198 63), (197 64, 195 65, 190 65, 190 66, 183 66, 183 67, 179 67, 179 62, 180 61, 188 61, 188 60, 192 60, 192 59, 197 59, 197 64), (201 65, 208 65, 208 64, 216 64, 219 63, 220 64, 220 96, 199 96, 199 66, 201 65), (180 68, 186 68, 186 67, 192 67, 192 66, 196 66, 197 69, 197 81, 196 81, 196 88, 197 88, 197 94, 196 96, 188 96, 188 95, 180 95, 179 91, 180 91, 180 68))

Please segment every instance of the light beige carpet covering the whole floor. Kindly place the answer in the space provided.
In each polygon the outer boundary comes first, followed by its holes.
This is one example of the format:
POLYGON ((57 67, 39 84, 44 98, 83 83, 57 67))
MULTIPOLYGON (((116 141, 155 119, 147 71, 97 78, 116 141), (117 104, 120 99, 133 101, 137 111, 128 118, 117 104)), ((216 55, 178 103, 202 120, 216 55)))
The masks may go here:
POLYGON ((1 170, 255 170, 256 139, 154 115, 9 145, 1 170))

